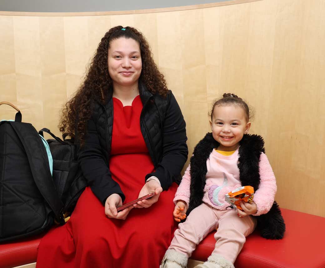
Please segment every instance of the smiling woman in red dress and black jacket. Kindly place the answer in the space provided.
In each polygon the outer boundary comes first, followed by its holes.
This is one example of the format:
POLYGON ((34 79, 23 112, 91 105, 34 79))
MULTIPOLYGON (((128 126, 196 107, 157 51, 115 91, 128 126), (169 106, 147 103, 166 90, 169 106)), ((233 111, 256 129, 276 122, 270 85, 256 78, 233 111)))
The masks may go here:
POLYGON ((60 130, 73 135, 75 126, 90 187, 70 220, 42 239, 37 267, 159 267, 174 230, 173 182, 187 160, 187 137, 176 99, 136 29, 117 26, 102 38, 60 130), (156 195, 117 212, 150 192, 156 195))

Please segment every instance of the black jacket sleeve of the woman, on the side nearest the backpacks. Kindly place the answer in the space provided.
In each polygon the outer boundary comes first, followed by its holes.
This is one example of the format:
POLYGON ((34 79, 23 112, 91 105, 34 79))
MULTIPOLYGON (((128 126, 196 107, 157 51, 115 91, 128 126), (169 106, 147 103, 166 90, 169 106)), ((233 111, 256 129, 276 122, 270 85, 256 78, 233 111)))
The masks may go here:
POLYGON ((78 161, 91 190, 102 204, 113 193, 119 194, 124 201, 125 196, 119 184, 112 179, 108 163, 101 152, 94 117, 87 123, 85 145, 78 146, 78 161))

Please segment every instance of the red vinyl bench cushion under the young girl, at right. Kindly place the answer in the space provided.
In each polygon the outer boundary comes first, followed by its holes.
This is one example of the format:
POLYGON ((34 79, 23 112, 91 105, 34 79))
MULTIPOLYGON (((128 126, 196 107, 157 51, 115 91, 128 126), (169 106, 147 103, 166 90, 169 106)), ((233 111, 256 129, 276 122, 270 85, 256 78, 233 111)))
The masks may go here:
MULTIPOLYGON (((281 240, 262 238, 258 231, 247 237, 236 268, 324 268, 325 218, 281 209, 286 232, 281 240)), ((206 261, 214 249, 213 233, 197 246, 191 259, 206 261)))

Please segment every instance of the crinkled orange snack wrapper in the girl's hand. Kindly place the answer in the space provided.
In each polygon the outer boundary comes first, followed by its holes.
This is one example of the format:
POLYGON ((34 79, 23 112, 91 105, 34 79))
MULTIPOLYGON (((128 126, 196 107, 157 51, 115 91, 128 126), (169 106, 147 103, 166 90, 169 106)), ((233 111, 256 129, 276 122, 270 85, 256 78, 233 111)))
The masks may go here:
POLYGON ((238 187, 225 195, 225 201, 231 204, 232 207, 236 206, 243 210, 239 204, 240 201, 252 203, 254 198, 254 188, 252 186, 238 187))

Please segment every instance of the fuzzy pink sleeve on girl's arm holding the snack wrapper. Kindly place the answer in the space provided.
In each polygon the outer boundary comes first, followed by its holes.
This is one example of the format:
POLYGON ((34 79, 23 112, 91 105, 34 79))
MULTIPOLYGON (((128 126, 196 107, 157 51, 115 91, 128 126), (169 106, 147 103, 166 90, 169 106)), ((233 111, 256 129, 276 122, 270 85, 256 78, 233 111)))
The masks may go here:
POLYGON ((258 190, 254 194, 253 201, 257 206, 257 212, 253 216, 267 213, 272 207, 277 192, 275 176, 270 162, 264 153, 261 153, 260 156, 259 169, 261 181, 258 190))

